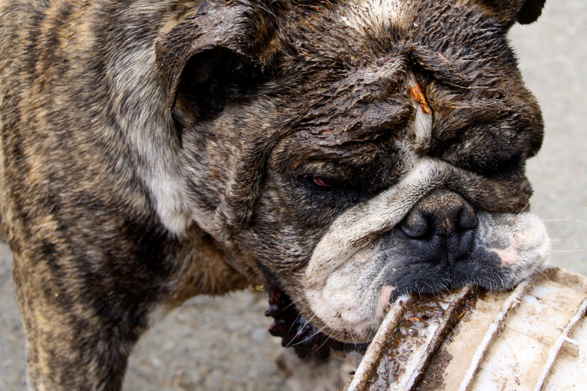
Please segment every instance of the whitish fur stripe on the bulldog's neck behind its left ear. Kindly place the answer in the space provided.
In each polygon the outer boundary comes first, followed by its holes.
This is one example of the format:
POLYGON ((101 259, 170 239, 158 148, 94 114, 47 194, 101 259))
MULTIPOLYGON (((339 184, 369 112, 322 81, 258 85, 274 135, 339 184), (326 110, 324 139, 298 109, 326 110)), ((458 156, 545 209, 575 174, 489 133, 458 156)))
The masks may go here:
POLYGON ((180 145, 159 81, 154 46, 113 58, 107 77, 116 118, 136 154, 137 174, 149 188, 161 223, 181 236, 191 217, 179 170, 180 145))

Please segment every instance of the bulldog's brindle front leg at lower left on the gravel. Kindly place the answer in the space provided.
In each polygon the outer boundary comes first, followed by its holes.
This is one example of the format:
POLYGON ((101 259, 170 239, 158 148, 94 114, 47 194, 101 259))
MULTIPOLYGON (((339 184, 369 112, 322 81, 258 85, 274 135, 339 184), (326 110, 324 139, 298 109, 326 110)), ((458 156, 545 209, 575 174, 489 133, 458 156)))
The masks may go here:
POLYGON ((14 265, 29 389, 119 390, 127 356, 146 329, 153 303, 135 302, 133 308, 120 300, 100 309, 96 304, 108 293, 79 286, 75 292, 48 264, 16 254, 14 265))

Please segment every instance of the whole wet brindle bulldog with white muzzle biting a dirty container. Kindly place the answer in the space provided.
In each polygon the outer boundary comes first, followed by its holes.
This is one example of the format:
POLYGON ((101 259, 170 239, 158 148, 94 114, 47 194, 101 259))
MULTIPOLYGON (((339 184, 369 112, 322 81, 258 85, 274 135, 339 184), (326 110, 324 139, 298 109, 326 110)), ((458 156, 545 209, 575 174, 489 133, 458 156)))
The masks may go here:
POLYGON ((271 331, 323 357, 400 294, 534 273, 543 124, 507 32, 543 5, 1 0, 29 387, 120 389, 196 294, 268 283, 271 331))

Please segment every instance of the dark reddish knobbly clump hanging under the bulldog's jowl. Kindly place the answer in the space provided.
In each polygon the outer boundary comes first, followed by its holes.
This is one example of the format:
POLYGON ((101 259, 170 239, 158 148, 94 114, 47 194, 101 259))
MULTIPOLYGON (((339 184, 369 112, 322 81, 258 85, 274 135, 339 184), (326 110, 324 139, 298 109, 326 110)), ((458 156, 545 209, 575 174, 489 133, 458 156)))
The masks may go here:
POLYGON ((330 349, 366 351, 368 344, 346 344, 315 328, 298 312, 291 298, 276 284, 268 283, 267 290, 269 291, 269 310, 265 312, 265 316, 275 319, 269 326, 269 333, 273 336, 281 336, 281 345, 292 346, 299 358, 305 358, 313 353, 319 359, 326 359, 330 355, 330 349))

